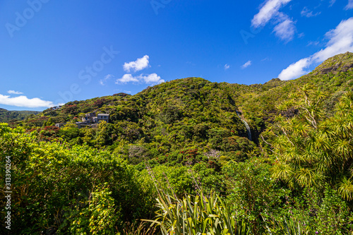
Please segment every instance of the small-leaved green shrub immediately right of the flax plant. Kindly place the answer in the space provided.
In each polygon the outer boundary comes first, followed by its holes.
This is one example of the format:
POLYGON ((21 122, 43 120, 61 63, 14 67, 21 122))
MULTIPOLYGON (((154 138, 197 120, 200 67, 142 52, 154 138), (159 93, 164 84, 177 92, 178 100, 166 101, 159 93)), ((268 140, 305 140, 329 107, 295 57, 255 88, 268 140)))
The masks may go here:
POLYGON ((227 204, 234 216, 251 223, 253 234, 263 234, 263 219, 280 215, 282 201, 289 194, 271 179, 269 165, 253 159, 252 162, 228 164, 224 171, 227 179, 227 204))

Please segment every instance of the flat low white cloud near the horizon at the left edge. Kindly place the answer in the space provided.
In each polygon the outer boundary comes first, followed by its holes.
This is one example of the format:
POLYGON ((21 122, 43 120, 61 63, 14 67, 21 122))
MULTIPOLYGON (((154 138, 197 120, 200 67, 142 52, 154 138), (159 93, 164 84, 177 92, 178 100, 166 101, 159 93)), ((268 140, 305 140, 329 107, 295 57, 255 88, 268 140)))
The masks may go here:
POLYGON ((9 95, 0 94, 0 104, 16 106, 16 107, 26 107, 26 108, 39 108, 39 107, 54 107, 59 104, 54 104, 51 101, 41 100, 40 98, 28 99, 24 95, 18 97, 10 97, 9 95))

